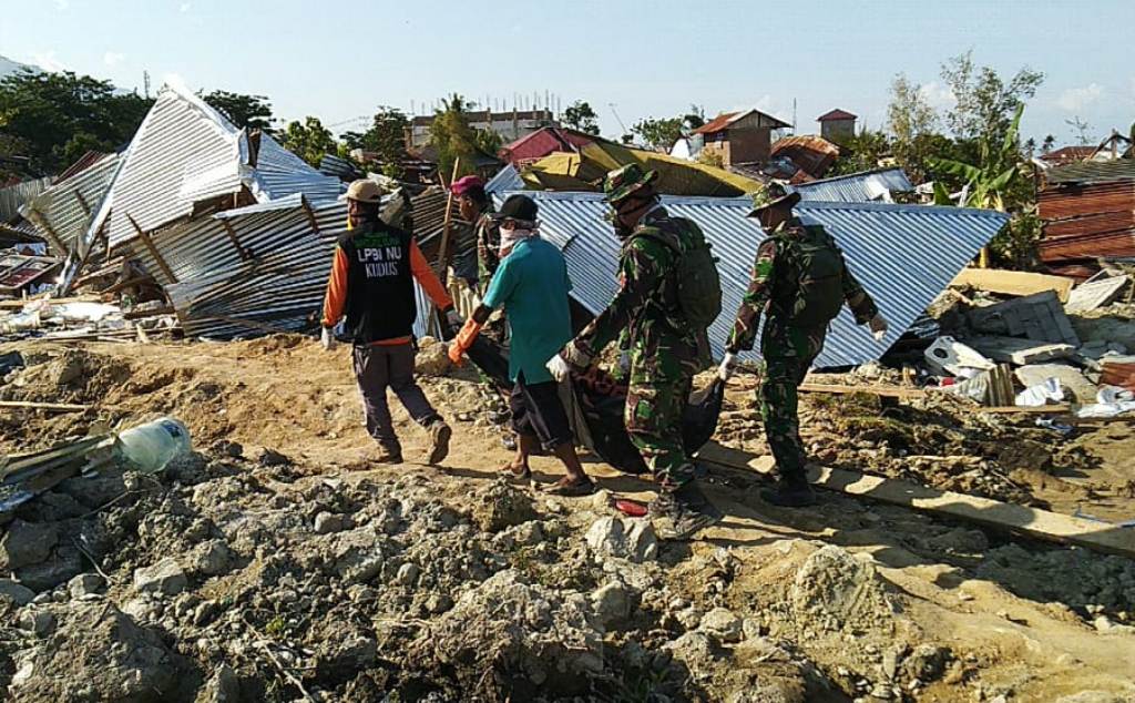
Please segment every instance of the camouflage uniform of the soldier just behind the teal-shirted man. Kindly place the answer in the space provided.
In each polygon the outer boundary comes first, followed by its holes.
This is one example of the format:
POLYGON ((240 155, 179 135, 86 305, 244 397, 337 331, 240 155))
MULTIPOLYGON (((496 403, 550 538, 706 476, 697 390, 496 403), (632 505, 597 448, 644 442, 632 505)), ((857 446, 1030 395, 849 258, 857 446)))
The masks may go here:
POLYGON ((681 318, 678 257, 688 246, 690 220, 670 217, 661 206, 648 212, 620 252, 620 288, 614 300, 575 337, 594 355, 625 330, 631 368, 624 420, 627 432, 655 479, 678 487, 693 478, 693 461, 682 446, 681 417, 693 375, 706 368, 705 333, 681 318))

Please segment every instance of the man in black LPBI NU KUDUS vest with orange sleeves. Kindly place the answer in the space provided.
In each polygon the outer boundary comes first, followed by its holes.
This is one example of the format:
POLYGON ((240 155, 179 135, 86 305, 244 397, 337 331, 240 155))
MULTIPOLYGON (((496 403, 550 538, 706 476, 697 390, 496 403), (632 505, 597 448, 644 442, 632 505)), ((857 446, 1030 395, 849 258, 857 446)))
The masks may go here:
POLYGON ((401 463, 386 390, 429 433, 429 463, 449 451, 453 434, 414 380, 413 325, 418 316, 414 281, 446 320, 453 301, 410 233, 379 217, 382 190, 373 181, 355 181, 347 190, 347 229, 335 246, 335 261, 323 300, 323 349, 336 340, 333 328, 346 317, 352 362, 367 417, 367 432, 378 442, 378 461, 401 463))

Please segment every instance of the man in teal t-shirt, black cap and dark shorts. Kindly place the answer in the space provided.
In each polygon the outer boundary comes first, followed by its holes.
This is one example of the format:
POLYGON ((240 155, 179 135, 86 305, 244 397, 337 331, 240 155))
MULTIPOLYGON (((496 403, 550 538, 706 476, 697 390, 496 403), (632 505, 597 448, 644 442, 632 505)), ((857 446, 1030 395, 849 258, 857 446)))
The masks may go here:
POLYGON ((508 405, 520 441, 516 457, 505 470, 516 478, 530 477, 529 457, 537 445, 543 445, 568 469, 568 475, 548 491, 586 495, 595 484, 575 454, 558 384, 545 368, 547 359, 572 338, 568 308, 571 281, 563 254, 537 235, 536 215, 531 198, 512 195, 493 216, 501 223, 501 263, 481 304, 449 346, 449 358, 461 362, 493 310, 503 308, 507 312, 512 337, 508 376, 513 382, 508 405))

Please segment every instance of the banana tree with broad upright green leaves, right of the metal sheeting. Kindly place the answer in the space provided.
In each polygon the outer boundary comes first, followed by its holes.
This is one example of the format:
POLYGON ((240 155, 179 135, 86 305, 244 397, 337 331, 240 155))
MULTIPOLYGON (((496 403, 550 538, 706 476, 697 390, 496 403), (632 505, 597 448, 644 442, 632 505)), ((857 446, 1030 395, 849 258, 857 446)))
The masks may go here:
MULTIPOLYGON (((959 206, 1000 210, 1004 212, 1004 193, 1022 175, 1020 159, 1017 152, 1017 134, 1020 127, 1020 115, 1025 106, 1017 106, 1017 112, 1004 133, 1004 140, 999 145, 982 139, 978 148, 980 164, 973 166, 953 159, 930 159, 930 165, 951 176, 961 178, 966 186, 962 190, 962 201, 959 206), (1004 165, 1009 164, 1008 168, 1004 165)), ((934 204, 953 204, 950 192, 941 182, 934 183, 934 204)))

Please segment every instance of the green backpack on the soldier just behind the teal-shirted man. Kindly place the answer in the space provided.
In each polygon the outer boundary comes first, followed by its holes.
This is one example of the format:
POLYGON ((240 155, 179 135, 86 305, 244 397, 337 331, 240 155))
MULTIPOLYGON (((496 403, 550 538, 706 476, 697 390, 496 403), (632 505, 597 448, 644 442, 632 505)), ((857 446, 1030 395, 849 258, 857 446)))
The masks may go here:
POLYGON ((666 236, 667 233, 658 227, 642 227, 632 236, 649 236, 674 252, 678 260, 678 307, 693 329, 708 329, 721 315, 721 275, 713 245, 692 221, 680 217, 670 219, 681 226, 684 241, 666 236))

